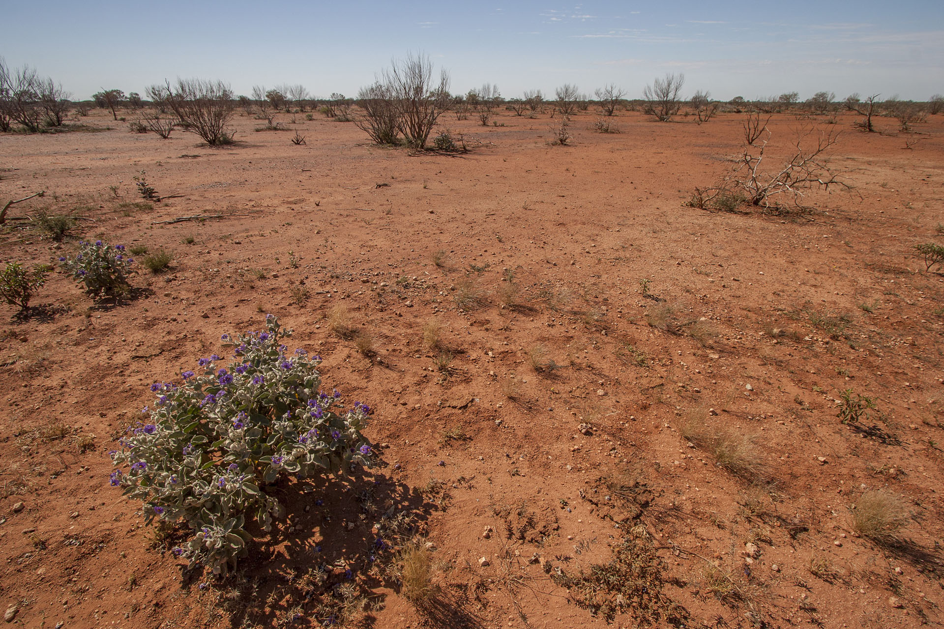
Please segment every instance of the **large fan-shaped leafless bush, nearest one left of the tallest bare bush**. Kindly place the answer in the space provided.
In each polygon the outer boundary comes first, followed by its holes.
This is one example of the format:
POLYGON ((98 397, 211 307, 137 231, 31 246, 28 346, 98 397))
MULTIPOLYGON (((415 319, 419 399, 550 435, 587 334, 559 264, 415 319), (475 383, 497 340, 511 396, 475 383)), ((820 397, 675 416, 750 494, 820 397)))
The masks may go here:
POLYGON ((178 78, 171 103, 187 131, 211 146, 232 143, 233 94, 223 81, 178 78))

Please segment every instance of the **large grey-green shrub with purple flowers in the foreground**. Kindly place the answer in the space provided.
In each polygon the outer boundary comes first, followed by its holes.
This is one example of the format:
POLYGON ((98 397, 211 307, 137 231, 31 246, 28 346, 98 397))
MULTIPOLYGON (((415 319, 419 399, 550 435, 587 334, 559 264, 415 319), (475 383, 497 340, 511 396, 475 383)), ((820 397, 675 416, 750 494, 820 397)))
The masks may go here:
POLYGON ((223 335, 232 359, 200 358, 183 382, 156 383, 147 419, 128 429, 111 485, 144 503, 147 523, 186 522, 194 531, 174 554, 214 573, 245 555, 246 519, 269 531, 284 510, 266 487, 279 478, 341 475, 370 466, 362 434, 370 408, 345 408, 340 393, 321 390, 320 356, 286 354, 292 330, 266 316, 267 331, 223 335), (127 466, 123 471, 121 467, 127 466))

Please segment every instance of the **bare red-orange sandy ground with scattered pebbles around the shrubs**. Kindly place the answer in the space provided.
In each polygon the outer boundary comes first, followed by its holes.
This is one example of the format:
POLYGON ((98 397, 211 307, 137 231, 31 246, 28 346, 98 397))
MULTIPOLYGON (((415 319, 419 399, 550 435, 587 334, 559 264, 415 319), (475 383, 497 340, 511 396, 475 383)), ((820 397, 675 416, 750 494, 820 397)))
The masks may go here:
MULTIPOLYGON (((300 146, 244 115, 240 143, 211 148, 100 110, 81 119, 94 131, 0 136, 0 201, 48 192, 11 216, 91 219, 62 244, 8 223, 0 260, 58 266, 78 238, 174 253, 117 306, 58 269, 33 316, 0 305, 0 611, 29 627, 319 626, 322 592, 298 584, 327 563, 326 588, 349 566, 371 593, 362 626, 607 626, 550 574, 606 563, 643 526, 662 571, 642 608, 673 601, 685 626, 940 625, 944 279, 913 247, 944 240, 944 117, 908 150, 894 119, 864 134, 848 114, 776 115, 771 168, 801 125, 841 130, 832 165, 854 190, 812 191, 806 215, 684 207, 730 166, 745 116, 620 112, 621 132, 599 134, 585 113, 558 146, 548 115, 483 127, 447 113, 470 148, 451 155, 381 148, 320 114, 279 116, 300 146), (122 207, 141 201, 140 171, 177 196, 122 207), (156 223, 201 213, 232 216, 156 223), (517 305, 502 303, 508 273, 517 305), (467 280, 483 302, 462 311, 467 280), (329 332, 338 304, 374 356, 329 332), (109 487, 107 453, 152 382, 178 381, 265 312, 324 356, 348 404, 374 408, 366 435, 387 466, 279 488, 288 518, 216 581, 161 551, 141 505, 109 487), (432 319, 454 356, 443 372, 423 343, 432 319), (532 368, 538 346, 557 368, 532 368), (840 423, 844 389, 881 416, 840 423), (718 466, 682 437, 690 425, 754 438, 767 477, 718 466), (428 603, 356 563, 379 517, 354 499, 364 488, 379 514, 420 522, 428 603), (910 516, 894 544, 852 527, 850 505, 876 488, 910 516)), ((613 626, 637 626, 640 609, 613 626)))

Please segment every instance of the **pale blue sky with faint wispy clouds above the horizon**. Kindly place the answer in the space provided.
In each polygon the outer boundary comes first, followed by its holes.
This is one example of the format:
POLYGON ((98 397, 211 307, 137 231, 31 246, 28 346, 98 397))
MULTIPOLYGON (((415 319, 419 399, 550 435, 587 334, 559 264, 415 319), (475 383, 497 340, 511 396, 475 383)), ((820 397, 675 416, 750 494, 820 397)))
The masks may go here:
POLYGON ((409 53, 447 69, 453 93, 489 82, 506 98, 565 83, 638 98, 666 73, 684 74, 683 96, 720 100, 944 93, 942 0, 3 0, 0 15, 8 67, 28 64, 76 100, 178 76, 236 94, 300 83, 354 96, 409 53))

